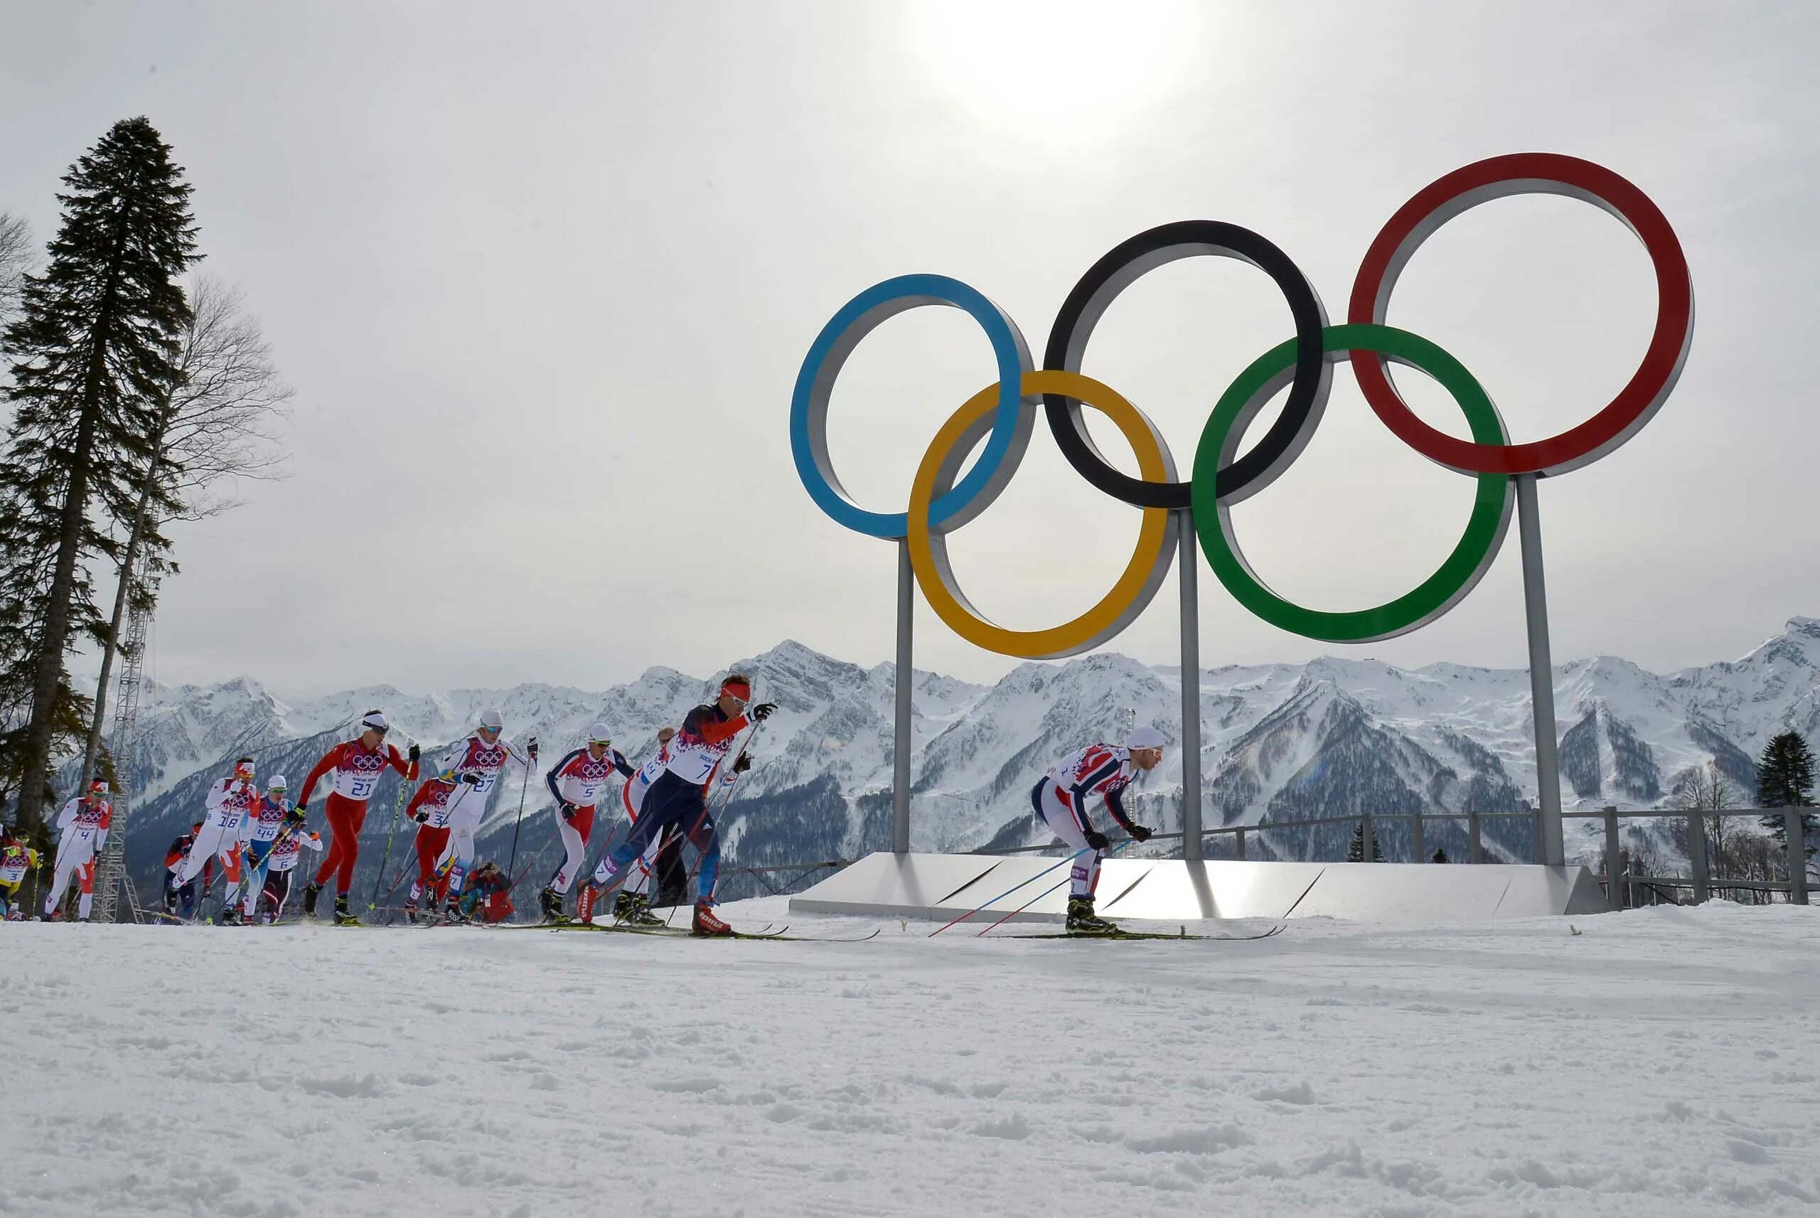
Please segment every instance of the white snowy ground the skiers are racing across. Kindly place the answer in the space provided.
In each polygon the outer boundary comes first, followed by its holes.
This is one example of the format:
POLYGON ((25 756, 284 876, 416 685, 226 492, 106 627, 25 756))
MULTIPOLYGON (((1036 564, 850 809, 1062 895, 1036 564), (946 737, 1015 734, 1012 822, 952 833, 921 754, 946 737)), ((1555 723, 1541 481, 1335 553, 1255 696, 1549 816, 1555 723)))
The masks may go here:
POLYGON ((1820 908, 1571 921, 0 925, 0 1213, 1816 1213, 1820 908))

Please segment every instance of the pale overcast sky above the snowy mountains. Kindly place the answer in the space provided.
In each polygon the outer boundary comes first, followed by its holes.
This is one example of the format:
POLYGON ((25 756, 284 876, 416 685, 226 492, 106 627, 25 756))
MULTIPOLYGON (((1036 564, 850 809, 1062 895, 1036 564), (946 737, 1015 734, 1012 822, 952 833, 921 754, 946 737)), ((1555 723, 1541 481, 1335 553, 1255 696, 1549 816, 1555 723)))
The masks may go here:
MULTIPOLYGON (((954 275, 1041 357, 1101 253, 1219 218, 1343 317, 1398 206, 1511 151, 1638 184, 1698 302, 1656 421, 1540 488, 1556 659, 1707 663, 1820 614, 1820 5, 5 0, 0 22, 0 211, 47 239, 58 177, 147 115, 195 184, 206 269, 246 289, 297 390, 289 481, 175 530, 162 681, 593 688, 784 637, 888 659, 892 546, 810 502, 786 428, 846 299, 954 275)), ((1500 200, 1421 249, 1390 320, 1542 439, 1629 379, 1654 284, 1602 211, 1500 200)), ((1085 371, 1187 472, 1214 399, 1289 333, 1259 271, 1194 259, 1119 299, 1085 371)), ((903 510, 930 435, 992 375, 965 315, 888 322, 834 395, 848 488, 903 510)), ((1345 368, 1334 386, 1301 461, 1234 517, 1279 592, 1361 608, 1440 563, 1471 481, 1394 441, 1345 368)), ((1103 595, 1134 537, 1039 422, 950 544, 976 604, 1036 628, 1103 595)), ((1465 603, 1390 643, 1276 630, 1205 563, 1201 597, 1208 666, 1525 659, 1514 528, 1465 603)), ((1176 639, 1170 577, 1112 646, 1174 663, 1176 639)), ((1014 663, 921 603, 915 657, 974 679, 1014 663)))

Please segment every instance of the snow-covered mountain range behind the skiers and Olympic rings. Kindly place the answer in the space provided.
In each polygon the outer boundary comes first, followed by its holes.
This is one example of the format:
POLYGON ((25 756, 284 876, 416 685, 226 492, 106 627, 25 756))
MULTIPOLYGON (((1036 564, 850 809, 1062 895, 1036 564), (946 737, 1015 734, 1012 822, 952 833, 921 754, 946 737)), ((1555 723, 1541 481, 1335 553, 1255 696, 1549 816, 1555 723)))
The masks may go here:
MULTIPOLYGON (((757 765, 726 816, 730 854, 748 863, 852 858, 888 843, 892 666, 861 668, 794 641, 737 666, 781 710, 753 745, 757 765)), ((155 874, 153 856, 187 825, 207 779, 235 754, 258 754, 262 774, 291 774, 295 792, 320 750, 369 706, 382 706, 400 728, 395 739, 410 734, 431 746, 464 736, 493 705, 508 736, 544 741, 546 759, 604 719, 615 745, 639 759, 655 746, 657 728, 704 701, 715 679, 650 668, 601 692, 375 686, 315 699, 280 697, 251 677, 147 685, 122 766, 135 805, 135 872, 155 874)), ((1036 841, 1028 816, 1036 777, 1081 743, 1121 739, 1134 717, 1176 739, 1179 690, 1179 670, 1117 654, 1021 665, 996 685, 917 672, 914 848, 1036 841)), ((1605 655, 1572 661, 1554 670, 1554 690, 1567 807, 1662 807, 1674 774, 1709 759, 1745 801, 1754 788, 1751 763, 1769 736, 1820 734, 1820 621, 1791 619, 1744 659, 1671 674, 1605 655)), ((1523 670, 1403 670, 1338 657, 1208 668, 1201 723, 1208 827, 1416 808, 1520 810, 1536 799, 1523 670)), ((1138 794, 1143 819, 1179 828, 1179 785, 1181 757, 1172 750, 1138 794)), ((521 856, 539 865, 544 854, 551 865, 555 858, 548 803, 533 783, 521 856)), ((517 805, 517 783, 500 783, 482 847, 511 830, 517 805)), ((391 792, 380 790, 373 808, 366 834, 382 837, 391 792)), ((1527 828, 1516 821, 1503 828, 1492 848, 1527 859, 1527 828)), ((1571 854, 1596 854, 1591 823, 1569 832, 1571 854)), ((1429 830, 1429 841, 1447 845, 1447 830, 1429 830)), ((1269 836, 1263 848, 1272 848, 1269 836)), ((1309 839, 1296 848, 1310 848, 1309 839)), ((1394 848, 1389 837, 1385 848, 1394 848)))

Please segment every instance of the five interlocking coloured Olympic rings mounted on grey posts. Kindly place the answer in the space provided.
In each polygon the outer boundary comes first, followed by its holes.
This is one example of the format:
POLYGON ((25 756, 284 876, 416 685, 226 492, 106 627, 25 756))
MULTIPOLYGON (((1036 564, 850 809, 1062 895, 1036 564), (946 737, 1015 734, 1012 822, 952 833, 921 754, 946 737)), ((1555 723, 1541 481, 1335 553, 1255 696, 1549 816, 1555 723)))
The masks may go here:
POLYGON ((1048 335, 1045 368, 1036 370, 1017 324, 966 284, 945 275, 903 275, 859 293, 810 346, 790 401, 790 448, 810 497, 861 533, 905 539, 930 608, 956 634, 1005 655, 1056 659, 1107 643, 1132 623, 1168 573, 1178 541, 1176 513, 1192 510, 1214 575, 1252 614, 1312 639, 1370 643, 1416 630, 1458 604, 1485 575, 1511 521, 1516 475, 1558 475, 1592 464, 1636 435, 1667 401, 1693 342, 1693 280, 1674 229, 1636 186, 1611 169, 1556 153, 1492 157, 1438 178, 1390 217, 1370 242, 1352 282, 1347 322, 1330 326, 1321 299, 1272 242, 1236 224, 1183 220, 1121 242, 1074 286, 1048 335), (1565 195, 1591 202, 1625 224, 1643 244, 1656 275, 1656 326, 1642 362, 1618 395, 1578 426, 1531 444, 1512 444, 1498 408, 1460 360, 1436 344, 1385 324, 1390 291, 1421 242, 1456 215, 1511 195, 1565 195), (1094 326, 1114 299, 1147 271, 1196 255, 1256 266, 1281 289, 1294 319, 1292 339, 1254 360, 1225 390, 1201 430, 1187 482, 1156 424, 1108 386, 1081 375, 1094 326), (966 402, 930 441, 910 486, 906 512, 866 512, 841 486, 828 457, 828 401, 841 366, 885 319, 928 304, 966 311, 986 333, 997 381, 966 402), (1352 366, 1367 404, 1390 431, 1423 457, 1478 482, 1472 512, 1452 553, 1414 590, 1369 610, 1321 612, 1276 595, 1245 561, 1228 508, 1274 482, 1307 448, 1327 410, 1332 364, 1352 366), (1432 377, 1465 413, 1471 441, 1421 422, 1398 395, 1385 364, 1432 377), (1289 386, 1281 415, 1250 452, 1239 442, 1259 410, 1289 386), (948 563, 946 535, 981 512, 1023 461, 1041 406, 1056 444, 1074 470, 1101 492, 1141 510, 1138 546, 1112 590, 1088 612, 1048 630, 1006 630, 979 614, 948 563), (1107 415, 1138 455, 1141 477, 1116 470, 1094 448, 1081 408, 1107 415), (985 450, 966 477, 974 446, 985 450), (959 477, 959 481, 957 481, 959 477))

